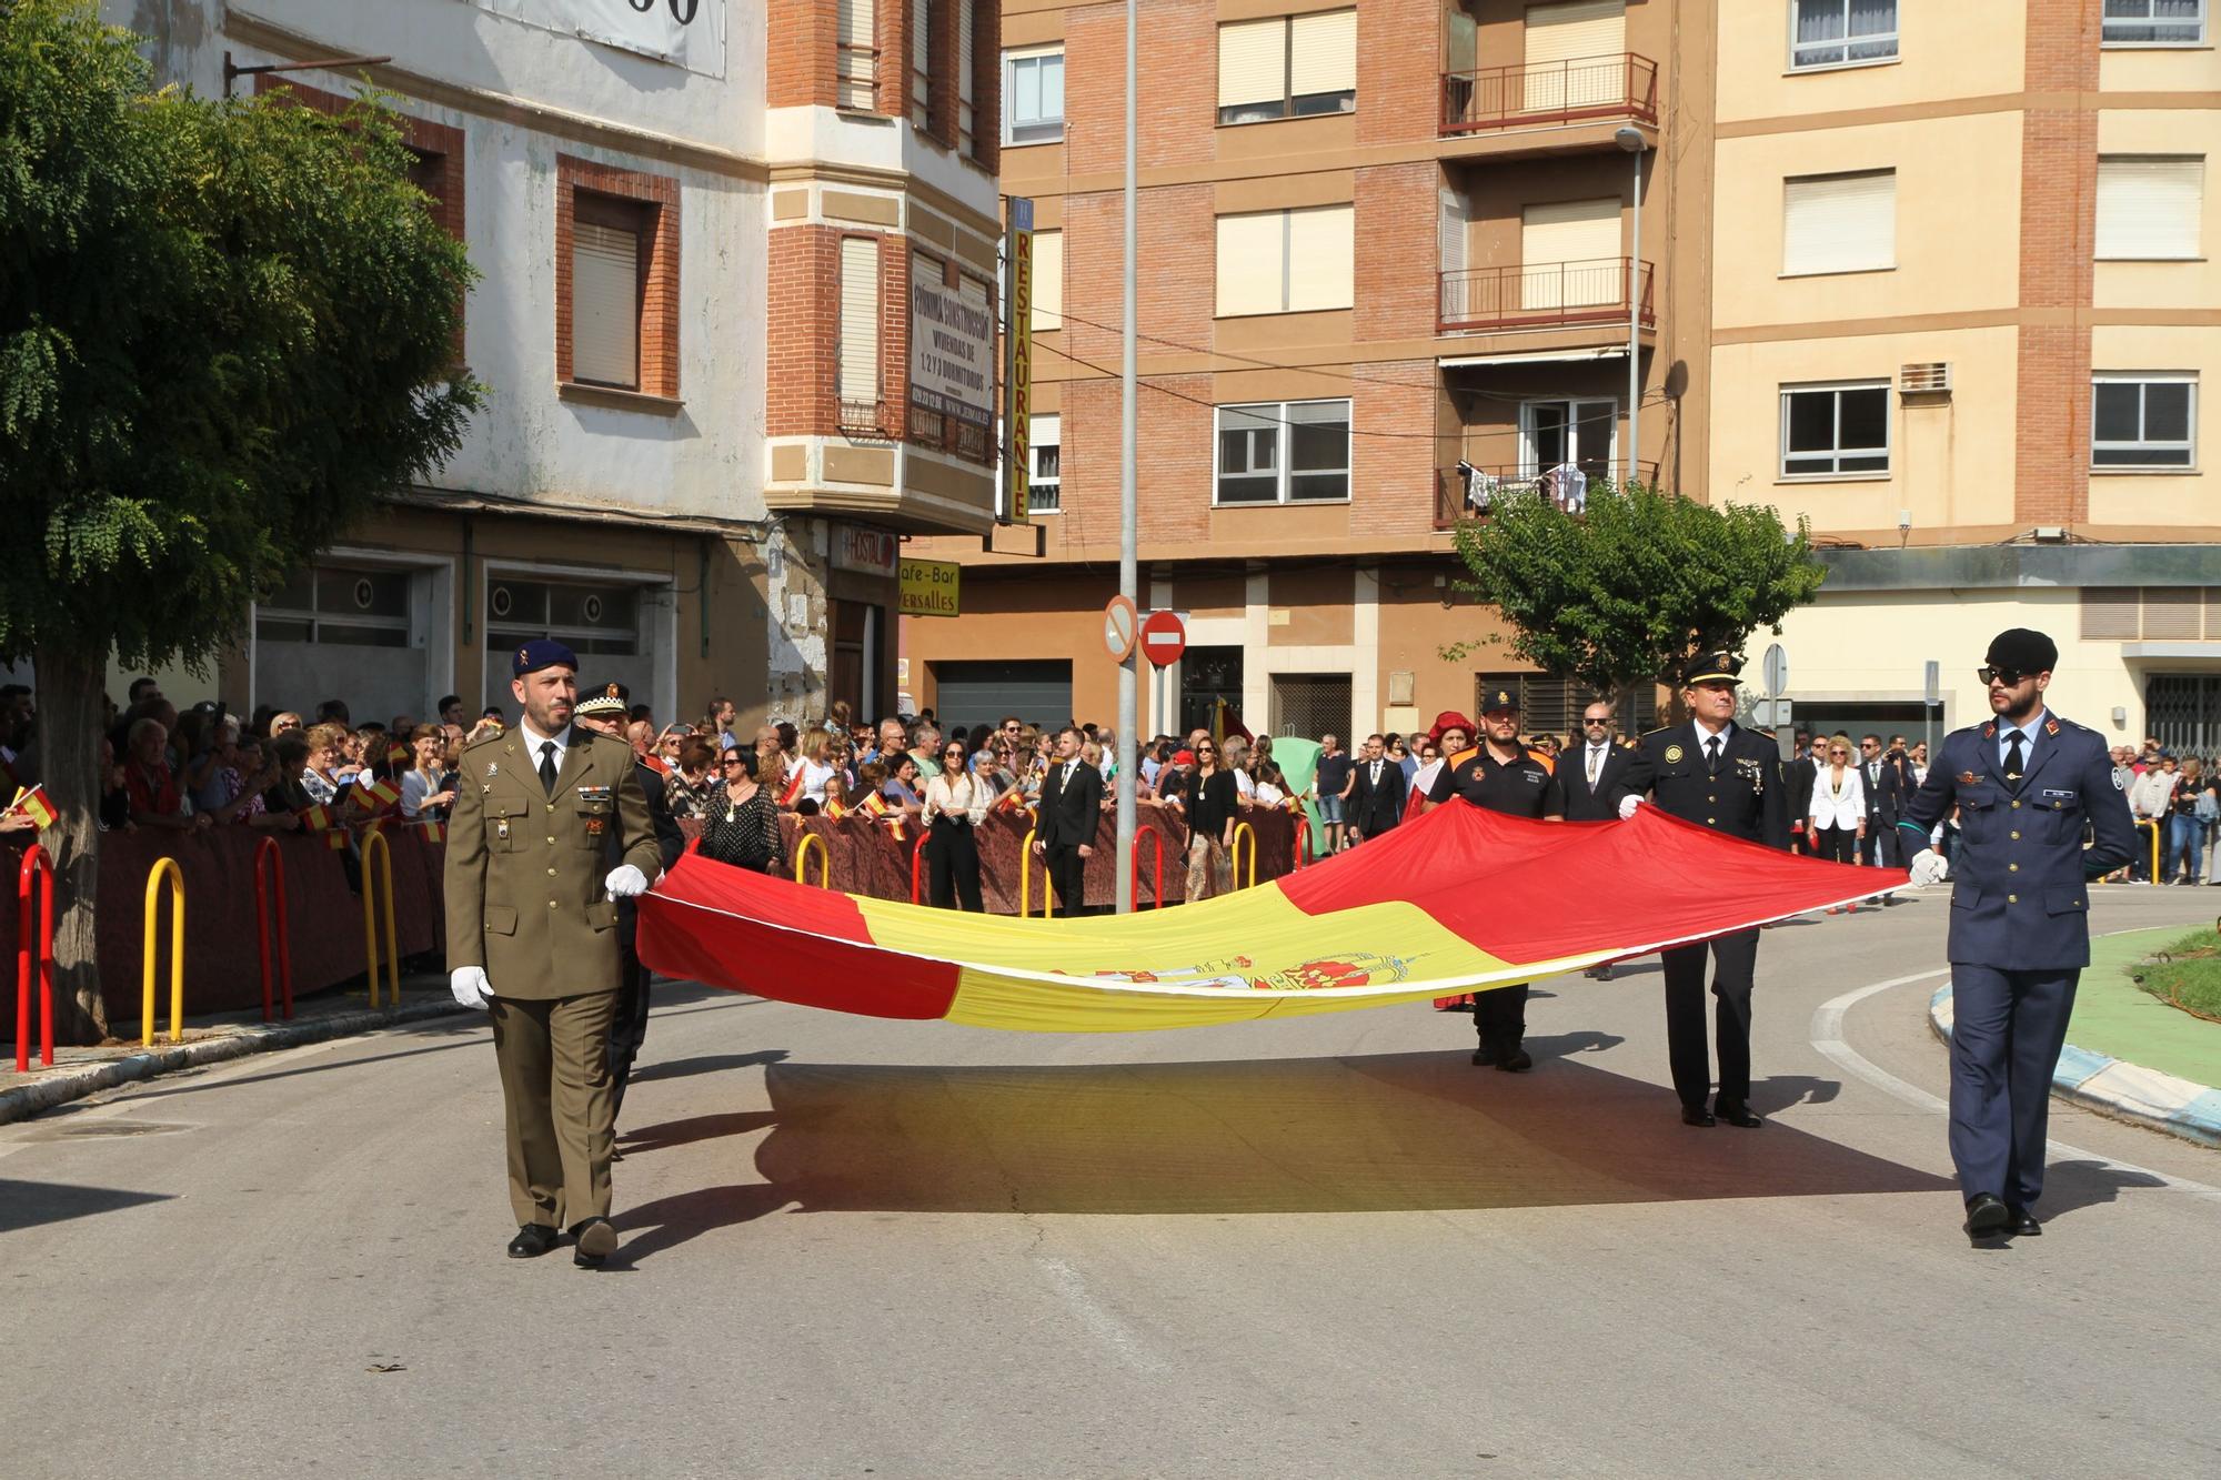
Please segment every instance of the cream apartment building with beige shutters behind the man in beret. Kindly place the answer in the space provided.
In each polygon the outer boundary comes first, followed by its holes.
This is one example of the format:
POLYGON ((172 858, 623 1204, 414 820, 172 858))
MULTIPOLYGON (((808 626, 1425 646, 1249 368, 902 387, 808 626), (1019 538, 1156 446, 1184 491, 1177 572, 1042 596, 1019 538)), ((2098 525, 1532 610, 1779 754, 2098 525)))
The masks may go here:
POLYGON ((1983 644, 2026 624, 2063 713, 2212 753, 2212 4, 1730 9, 1704 491, 1837 547, 1783 633, 1799 716, 1981 718, 1983 644))

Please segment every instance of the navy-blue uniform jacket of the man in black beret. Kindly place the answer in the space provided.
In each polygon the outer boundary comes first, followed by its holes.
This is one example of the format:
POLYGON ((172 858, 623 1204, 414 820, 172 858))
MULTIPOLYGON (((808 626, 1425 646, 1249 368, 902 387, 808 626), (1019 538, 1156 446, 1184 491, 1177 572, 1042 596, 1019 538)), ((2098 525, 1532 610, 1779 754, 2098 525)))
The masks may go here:
POLYGON ((1906 853, 1959 809, 1952 858, 1950 960, 1999 971, 2090 964, 2086 880, 2137 851, 2128 798, 2112 784, 2103 736, 2048 716, 2012 789, 1999 769, 1997 722, 1959 729, 1906 802, 1906 853), (2083 849, 2083 822, 2097 842, 2083 849))

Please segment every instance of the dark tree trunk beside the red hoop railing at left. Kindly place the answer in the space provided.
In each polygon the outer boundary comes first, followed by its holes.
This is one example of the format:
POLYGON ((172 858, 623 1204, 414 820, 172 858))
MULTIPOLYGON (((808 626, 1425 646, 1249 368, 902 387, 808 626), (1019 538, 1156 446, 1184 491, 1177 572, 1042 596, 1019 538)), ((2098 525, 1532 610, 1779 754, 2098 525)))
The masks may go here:
POLYGON ((60 813, 42 842, 53 856, 56 1038, 71 1044, 109 1036, 93 951, 100 898, 100 720, 107 653, 40 649, 38 778, 60 813))

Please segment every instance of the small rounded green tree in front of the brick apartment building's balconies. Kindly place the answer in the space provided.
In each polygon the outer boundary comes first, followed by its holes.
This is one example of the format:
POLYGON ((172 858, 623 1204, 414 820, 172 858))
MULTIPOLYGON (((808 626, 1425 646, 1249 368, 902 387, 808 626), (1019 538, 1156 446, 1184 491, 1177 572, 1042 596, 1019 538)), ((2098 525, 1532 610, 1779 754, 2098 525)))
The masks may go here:
POLYGON ((1457 527, 1466 591, 1510 624, 1515 658, 1617 696, 1668 678, 1704 651, 1741 651, 1759 627, 1819 591, 1803 520, 1795 533, 1763 504, 1699 504, 1644 484, 1592 482, 1588 509, 1541 493, 1499 496, 1490 518, 1457 527))

